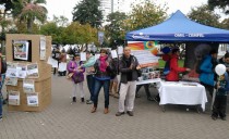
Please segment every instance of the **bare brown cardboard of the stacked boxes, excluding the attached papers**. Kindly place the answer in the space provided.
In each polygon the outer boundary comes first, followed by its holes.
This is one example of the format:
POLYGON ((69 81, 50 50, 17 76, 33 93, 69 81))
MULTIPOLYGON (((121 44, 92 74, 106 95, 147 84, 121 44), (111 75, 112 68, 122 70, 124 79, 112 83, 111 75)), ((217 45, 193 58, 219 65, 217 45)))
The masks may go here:
MULTIPOLYGON (((7 90, 20 91, 20 105, 9 105, 9 111, 43 111, 51 102, 51 65, 47 64, 51 55, 51 37, 46 36, 46 60, 40 60, 40 37, 43 35, 7 34, 7 61, 24 64, 38 64, 39 77, 35 80, 35 92, 38 92, 38 106, 27 105, 27 94, 23 91, 23 79, 17 80, 17 86, 7 86, 7 90), (31 42, 31 61, 16 61, 13 59, 13 40, 28 40, 31 42)), ((20 48, 20 47, 19 47, 20 48)), ((22 50, 17 49, 16 50, 22 50)), ((20 51, 21 52, 21 51, 20 51)))

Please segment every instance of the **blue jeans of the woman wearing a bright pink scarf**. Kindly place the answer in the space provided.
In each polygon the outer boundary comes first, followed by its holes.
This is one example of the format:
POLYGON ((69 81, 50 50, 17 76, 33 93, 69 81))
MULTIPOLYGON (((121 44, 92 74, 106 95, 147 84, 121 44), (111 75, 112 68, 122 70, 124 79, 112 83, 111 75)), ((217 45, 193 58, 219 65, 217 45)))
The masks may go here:
POLYGON ((98 94, 103 86, 104 86, 104 93, 105 93, 105 108, 108 109, 110 79, 107 79, 107 80, 95 79, 94 106, 97 108, 98 94))

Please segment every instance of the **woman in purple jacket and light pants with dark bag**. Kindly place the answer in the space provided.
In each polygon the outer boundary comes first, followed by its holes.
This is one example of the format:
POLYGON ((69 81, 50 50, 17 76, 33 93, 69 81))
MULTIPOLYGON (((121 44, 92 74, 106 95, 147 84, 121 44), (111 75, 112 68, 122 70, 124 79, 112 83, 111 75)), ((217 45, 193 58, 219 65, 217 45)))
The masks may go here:
POLYGON ((83 62, 81 61, 81 56, 79 53, 74 54, 73 60, 68 64, 69 74, 72 73, 72 83, 73 83, 73 92, 72 92, 72 102, 76 102, 76 92, 81 92, 81 102, 84 102, 84 90, 83 90, 83 81, 84 81, 84 72, 85 68, 81 65, 83 62))

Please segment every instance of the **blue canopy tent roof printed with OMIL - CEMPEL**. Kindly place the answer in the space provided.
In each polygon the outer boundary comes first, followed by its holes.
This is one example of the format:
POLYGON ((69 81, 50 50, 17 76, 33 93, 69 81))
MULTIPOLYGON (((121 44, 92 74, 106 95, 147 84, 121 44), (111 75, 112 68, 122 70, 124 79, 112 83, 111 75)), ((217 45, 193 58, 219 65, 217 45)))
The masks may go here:
POLYGON ((125 40, 229 42, 229 30, 209 27, 190 21, 178 10, 170 18, 158 25, 129 31, 125 35, 125 40))

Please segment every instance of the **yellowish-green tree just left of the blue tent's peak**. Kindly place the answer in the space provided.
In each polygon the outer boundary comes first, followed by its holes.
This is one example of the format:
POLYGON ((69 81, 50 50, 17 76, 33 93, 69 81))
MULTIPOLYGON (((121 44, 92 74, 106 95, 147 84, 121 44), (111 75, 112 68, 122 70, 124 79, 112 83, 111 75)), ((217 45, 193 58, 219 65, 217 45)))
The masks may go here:
POLYGON ((132 12, 124 22, 126 30, 141 29, 157 25, 167 17, 167 7, 156 5, 153 0, 145 0, 141 4, 132 5, 132 12))

